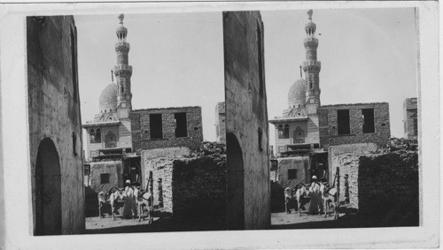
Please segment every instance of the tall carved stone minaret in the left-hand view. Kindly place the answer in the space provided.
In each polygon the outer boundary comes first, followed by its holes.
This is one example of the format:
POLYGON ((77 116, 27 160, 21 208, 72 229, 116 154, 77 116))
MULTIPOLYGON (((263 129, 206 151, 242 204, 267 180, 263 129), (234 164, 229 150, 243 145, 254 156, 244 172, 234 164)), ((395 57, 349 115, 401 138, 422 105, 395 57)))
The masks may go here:
POLYGON ((131 93, 131 75, 132 66, 128 64, 129 43, 126 42, 128 29, 123 26, 124 15, 120 14, 120 27, 117 28, 117 42, 115 43, 115 52, 117 52, 117 65, 113 67, 113 72, 117 79, 119 87, 117 95, 117 110, 120 119, 129 117, 132 110, 132 93, 131 93))

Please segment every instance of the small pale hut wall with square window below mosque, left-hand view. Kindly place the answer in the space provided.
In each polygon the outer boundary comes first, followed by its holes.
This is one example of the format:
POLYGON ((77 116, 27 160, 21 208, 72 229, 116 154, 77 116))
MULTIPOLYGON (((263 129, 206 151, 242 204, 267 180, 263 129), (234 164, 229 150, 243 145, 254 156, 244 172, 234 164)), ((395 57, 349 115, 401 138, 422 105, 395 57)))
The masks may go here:
POLYGON ((96 192, 109 192, 113 187, 122 187, 123 173, 121 161, 98 162, 90 164, 90 187, 96 192), (101 174, 109 174, 109 183, 101 184, 101 174))

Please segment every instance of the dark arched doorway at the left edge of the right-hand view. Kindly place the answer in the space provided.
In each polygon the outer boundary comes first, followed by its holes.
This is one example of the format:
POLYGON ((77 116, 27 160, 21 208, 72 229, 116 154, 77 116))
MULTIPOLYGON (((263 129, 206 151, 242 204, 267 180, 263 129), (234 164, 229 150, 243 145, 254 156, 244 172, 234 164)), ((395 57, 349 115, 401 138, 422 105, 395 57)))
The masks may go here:
POLYGON ((245 168, 237 137, 226 134, 228 229, 245 229, 245 168))

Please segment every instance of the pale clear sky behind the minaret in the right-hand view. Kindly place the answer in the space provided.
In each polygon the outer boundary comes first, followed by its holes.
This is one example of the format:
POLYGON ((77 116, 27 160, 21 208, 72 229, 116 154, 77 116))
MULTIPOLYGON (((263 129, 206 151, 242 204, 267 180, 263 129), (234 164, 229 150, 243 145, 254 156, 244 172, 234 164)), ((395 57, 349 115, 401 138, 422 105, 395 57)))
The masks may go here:
MULTIPOLYGON (((261 11, 268 118, 281 116, 305 59, 306 11, 261 11)), ((391 136, 403 137, 403 102, 417 97, 415 11, 314 10, 322 105, 389 102, 391 136)), ((275 145, 274 125, 269 125, 275 145)))

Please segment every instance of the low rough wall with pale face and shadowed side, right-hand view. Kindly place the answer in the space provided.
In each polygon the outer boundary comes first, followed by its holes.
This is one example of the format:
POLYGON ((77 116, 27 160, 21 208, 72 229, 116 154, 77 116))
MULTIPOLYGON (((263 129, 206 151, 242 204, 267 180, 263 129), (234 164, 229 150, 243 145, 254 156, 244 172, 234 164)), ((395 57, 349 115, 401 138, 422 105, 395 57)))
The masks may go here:
MULTIPOLYGON (((360 213, 389 213, 402 207, 418 209, 416 151, 346 153, 335 157, 340 176, 349 175, 351 205, 360 213)), ((340 200, 343 200, 343 178, 340 178, 340 191, 340 200)))

